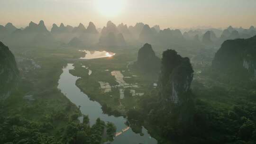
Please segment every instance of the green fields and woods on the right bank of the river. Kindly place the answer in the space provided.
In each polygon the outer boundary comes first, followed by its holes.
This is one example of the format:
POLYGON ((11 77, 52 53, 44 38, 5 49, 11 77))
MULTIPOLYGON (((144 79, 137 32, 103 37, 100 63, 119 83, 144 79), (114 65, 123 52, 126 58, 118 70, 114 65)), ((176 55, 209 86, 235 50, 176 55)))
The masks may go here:
POLYGON ((204 59, 204 63, 201 63, 204 55, 212 56, 211 53, 213 52, 191 57, 194 70, 191 85, 194 114, 193 123, 189 126, 174 126, 171 121, 175 117, 163 117, 168 110, 162 113, 149 113, 151 109, 159 108, 157 103, 159 92, 153 86, 153 83, 157 83, 158 77, 141 72, 132 67, 132 64, 127 68, 128 62, 136 61, 134 55, 121 53, 110 58, 77 61, 72 73, 81 76, 76 85, 91 99, 100 102, 103 111, 109 115, 128 116, 131 128, 137 133, 141 132, 140 127, 145 126, 159 144, 169 142, 181 144, 187 142, 192 144, 206 142, 246 144, 248 142, 253 144, 256 133, 253 82, 233 81, 234 83, 230 84, 231 81, 227 82, 219 78, 222 76, 220 73, 216 77, 216 73, 210 71, 212 58, 208 57, 207 60, 204 59), (82 71, 82 65, 92 70, 90 76, 86 75, 86 70, 82 71), (137 83, 139 88, 127 89, 134 89, 144 95, 130 97, 128 91, 125 90, 127 97, 120 99, 118 90, 120 87, 115 87, 117 83, 111 71, 120 71, 124 77, 131 77, 124 78, 124 81, 137 83), (111 92, 105 93, 98 81, 109 82, 112 86, 111 92), (242 85, 236 83, 242 83, 242 85), (184 135, 186 135, 185 138, 184 135))

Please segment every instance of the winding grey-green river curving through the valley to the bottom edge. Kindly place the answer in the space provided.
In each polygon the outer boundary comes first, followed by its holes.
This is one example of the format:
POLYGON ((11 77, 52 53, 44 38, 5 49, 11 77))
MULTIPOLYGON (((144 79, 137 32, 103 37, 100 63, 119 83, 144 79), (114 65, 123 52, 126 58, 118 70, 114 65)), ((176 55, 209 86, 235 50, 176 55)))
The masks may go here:
POLYGON ((152 138, 147 130, 143 127, 141 136, 134 133, 131 128, 125 125, 127 121, 124 117, 113 117, 103 114, 101 105, 96 101, 91 101, 86 94, 84 94, 76 85, 75 81, 79 77, 73 76, 69 73, 72 70, 73 64, 69 63, 63 68, 63 73, 60 76, 58 89, 70 99, 76 106, 81 106, 82 114, 88 115, 90 124, 93 125, 98 117, 105 122, 112 122, 117 127, 117 136, 111 144, 157 144, 157 141, 152 138))

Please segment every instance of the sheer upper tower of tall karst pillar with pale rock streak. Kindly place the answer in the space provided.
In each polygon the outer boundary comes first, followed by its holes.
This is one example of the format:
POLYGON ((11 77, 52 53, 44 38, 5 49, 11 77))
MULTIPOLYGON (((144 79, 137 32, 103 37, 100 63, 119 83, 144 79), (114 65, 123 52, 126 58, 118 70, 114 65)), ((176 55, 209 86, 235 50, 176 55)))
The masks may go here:
POLYGON ((161 96, 174 104, 183 103, 190 97, 193 69, 189 58, 181 57, 175 50, 163 53, 159 90, 161 96))

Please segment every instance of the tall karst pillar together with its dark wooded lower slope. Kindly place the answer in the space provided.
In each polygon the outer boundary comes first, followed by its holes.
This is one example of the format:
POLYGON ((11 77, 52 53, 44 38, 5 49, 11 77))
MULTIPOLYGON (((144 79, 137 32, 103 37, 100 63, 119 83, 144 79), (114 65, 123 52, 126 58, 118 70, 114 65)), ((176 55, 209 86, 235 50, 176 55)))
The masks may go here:
MULTIPOLYGON (((163 53, 158 93, 141 103, 151 126, 155 126, 166 137, 176 138, 190 135, 196 128, 196 107, 190 84, 193 69, 189 58, 183 58, 175 50, 163 53), (172 136, 171 136, 172 135, 172 136)), ((154 91, 154 90, 153 90, 154 91)))

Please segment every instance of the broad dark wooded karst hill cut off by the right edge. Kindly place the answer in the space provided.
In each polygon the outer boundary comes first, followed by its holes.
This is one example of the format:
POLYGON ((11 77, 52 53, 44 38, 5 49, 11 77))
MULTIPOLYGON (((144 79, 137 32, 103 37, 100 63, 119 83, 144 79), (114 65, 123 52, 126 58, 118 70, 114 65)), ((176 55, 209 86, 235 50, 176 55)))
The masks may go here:
POLYGON ((256 77, 256 36, 225 41, 215 54, 212 67, 226 73, 256 77))

